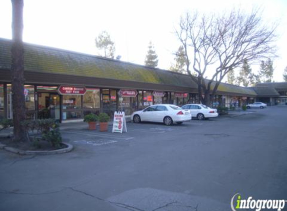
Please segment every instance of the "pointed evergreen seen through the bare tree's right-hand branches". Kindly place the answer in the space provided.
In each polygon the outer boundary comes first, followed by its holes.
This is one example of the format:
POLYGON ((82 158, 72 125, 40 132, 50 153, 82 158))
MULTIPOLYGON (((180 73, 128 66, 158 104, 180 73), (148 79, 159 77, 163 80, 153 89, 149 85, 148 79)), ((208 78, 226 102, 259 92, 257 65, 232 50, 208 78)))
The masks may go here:
POLYGON ((245 59, 243 62, 243 66, 239 71, 239 76, 237 77, 238 85, 242 84, 243 86, 251 86, 254 85, 256 81, 256 75, 252 73, 252 69, 248 64, 248 61, 245 59))

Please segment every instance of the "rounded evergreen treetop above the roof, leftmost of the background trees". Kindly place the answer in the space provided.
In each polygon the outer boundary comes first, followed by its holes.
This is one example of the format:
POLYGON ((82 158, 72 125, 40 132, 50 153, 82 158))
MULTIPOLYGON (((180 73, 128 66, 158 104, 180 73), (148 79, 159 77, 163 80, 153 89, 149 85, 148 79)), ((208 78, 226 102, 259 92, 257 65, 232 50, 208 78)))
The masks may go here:
MULTIPOLYGON (((104 55, 107 58, 114 58, 115 56, 115 46, 114 42, 111 40, 111 36, 107 31, 102 31, 98 37, 95 39, 96 47, 100 50, 104 50, 104 55)), ((100 54, 101 55, 101 54, 100 54)))

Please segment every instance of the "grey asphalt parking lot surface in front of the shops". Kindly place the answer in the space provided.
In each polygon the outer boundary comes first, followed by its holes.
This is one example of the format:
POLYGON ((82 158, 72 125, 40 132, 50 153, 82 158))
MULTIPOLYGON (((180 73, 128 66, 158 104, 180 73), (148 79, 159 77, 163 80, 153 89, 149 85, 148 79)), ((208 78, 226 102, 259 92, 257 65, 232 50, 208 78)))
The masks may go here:
POLYGON ((72 152, 0 151, 0 210, 223 211, 235 193, 287 199, 287 107, 252 111, 128 122, 122 134, 64 125, 72 152))

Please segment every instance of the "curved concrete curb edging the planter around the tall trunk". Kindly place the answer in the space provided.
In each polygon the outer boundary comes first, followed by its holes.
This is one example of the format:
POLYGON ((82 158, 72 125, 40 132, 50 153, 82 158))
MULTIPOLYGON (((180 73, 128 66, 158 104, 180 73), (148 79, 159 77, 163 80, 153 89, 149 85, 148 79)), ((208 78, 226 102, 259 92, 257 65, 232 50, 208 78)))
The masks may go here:
POLYGON ((36 155, 47 155, 47 154, 63 154, 69 151, 72 151, 74 146, 70 143, 65 143, 62 142, 63 144, 67 145, 67 148, 60 148, 60 149, 56 149, 56 150, 51 150, 51 151, 24 151, 18 148, 14 148, 14 147, 10 147, 7 146, 5 144, 0 144, 0 148, 5 149, 6 151, 10 151, 13 153, 17 153, 17 154, 36 154, 36 155))

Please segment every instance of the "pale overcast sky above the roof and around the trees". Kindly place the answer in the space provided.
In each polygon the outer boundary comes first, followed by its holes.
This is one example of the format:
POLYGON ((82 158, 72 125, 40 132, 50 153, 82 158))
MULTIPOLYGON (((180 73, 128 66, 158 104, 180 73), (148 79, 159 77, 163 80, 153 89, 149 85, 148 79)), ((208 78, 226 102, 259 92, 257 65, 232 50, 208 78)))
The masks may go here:
MULTIPOLYGON (((229 10, 240 6, 263 9, 266 22, 279 22, 274 80, 282 81, 287 66, 287 0, 24 0, 24 41, 98 54, 95 37, 106 30, 121 60, 143 64, 151 40, 158 67, 168 69, 179 46, 173 34, 180 15, 229 10)), ((0 37, 12 38, 11 0, 0 0, 0 37)), ((252 66, 258 70, 258 66, 252 66)))

